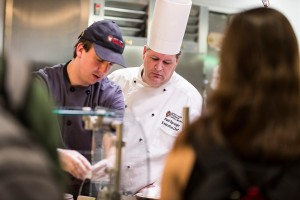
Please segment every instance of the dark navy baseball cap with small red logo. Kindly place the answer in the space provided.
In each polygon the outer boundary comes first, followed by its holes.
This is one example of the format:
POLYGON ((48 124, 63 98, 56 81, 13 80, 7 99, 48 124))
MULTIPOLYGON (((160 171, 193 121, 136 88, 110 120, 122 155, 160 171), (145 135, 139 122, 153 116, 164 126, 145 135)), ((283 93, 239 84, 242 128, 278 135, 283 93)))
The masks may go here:
POLYGON ((97 56, 123 67, 125 43, 120 27, 112 20, 100 20, 87 27, 78 38, 93 42, 97 56))

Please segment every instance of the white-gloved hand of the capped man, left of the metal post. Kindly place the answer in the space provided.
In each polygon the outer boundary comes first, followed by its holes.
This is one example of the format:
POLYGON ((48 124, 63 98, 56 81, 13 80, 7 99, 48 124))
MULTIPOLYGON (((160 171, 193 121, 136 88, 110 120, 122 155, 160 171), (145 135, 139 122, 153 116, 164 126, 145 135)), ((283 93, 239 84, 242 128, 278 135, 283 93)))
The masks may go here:
POLYGON ((70 149, 57 150, 63 170, 78 179, 85 179, 92 167, 90 162, 78 151, 70 149))

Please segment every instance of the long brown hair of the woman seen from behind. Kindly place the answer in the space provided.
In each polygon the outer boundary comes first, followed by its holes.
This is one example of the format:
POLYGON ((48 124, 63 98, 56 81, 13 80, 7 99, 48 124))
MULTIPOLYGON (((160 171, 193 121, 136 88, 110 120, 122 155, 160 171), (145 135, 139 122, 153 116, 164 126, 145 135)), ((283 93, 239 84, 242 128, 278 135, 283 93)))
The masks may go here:
POLYGON ((299 67, 297 38, 282 13, 237 14, 223 40, 218 87, 176 145, 210 138, 250 157, 300 156, 299 67))

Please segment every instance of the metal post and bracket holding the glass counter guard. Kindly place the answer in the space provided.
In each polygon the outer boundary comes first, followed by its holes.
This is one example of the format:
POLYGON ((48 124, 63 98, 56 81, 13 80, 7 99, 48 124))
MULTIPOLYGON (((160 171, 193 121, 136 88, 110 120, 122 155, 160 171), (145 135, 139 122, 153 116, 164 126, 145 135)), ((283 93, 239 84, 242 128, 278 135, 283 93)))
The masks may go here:
MULTIPOLYGON (((120 200, 121 189, 121 161, 122 161, 122 148, 123 143, 123 123, 116 119, 119 117, 115 112, 110 111, 106 108, 96 108, 92 110, 89 107, 82 108, 82 110, 70 110, 70 109, 57 109, 53 111, 57 115, 73 115, 82 116, 84 122, 84 128, 92 131, 92 148, 91 148, 91 163, 96 164, 97 162, 105 159, 103 155, 103 132, 99 130, 103 129, 104 126, 109 126, 116 132, 116 139, 113 142, 112 148, 115 149, 115 163, 113 166, 109 166, 105 169, 105 173, 108 175, 108 180, 95 182, 92 177, 91 183, 96 184, 99 189, 97 200, 120 200), (99 139, 100 138, 100 139, 99 139), (100 143, 100 144, 98 144, 100 143)), ((84 183, 84 181, 83 181, 84 183)), ((79 193, 78 199, 83 198, 79 193)))

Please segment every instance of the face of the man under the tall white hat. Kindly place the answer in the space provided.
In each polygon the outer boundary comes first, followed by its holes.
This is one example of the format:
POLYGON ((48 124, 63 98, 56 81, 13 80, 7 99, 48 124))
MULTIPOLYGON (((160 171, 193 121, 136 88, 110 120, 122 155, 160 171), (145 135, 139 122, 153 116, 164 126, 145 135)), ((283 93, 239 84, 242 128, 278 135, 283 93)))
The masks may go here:
POLYGON ((143 60, 143 81, 151 87, 159 87, 172 77, 179 62, 179 56, 157 53, 144 46, 143 60))

